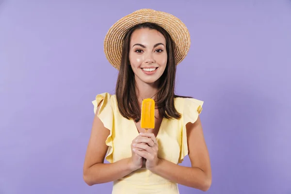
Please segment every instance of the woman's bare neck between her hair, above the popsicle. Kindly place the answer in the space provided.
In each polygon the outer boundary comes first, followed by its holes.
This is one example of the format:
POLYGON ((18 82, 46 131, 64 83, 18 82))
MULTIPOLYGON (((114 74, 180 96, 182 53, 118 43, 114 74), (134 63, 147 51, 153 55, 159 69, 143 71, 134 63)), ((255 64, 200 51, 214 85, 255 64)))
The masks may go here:
POLYGON ((145 83, 143 81, 135 80, 135 87, 137 98, 141 103, 145 98, 152 98, 155 99, 155 95, 158 92, 158 82, 155 83, 145 83))

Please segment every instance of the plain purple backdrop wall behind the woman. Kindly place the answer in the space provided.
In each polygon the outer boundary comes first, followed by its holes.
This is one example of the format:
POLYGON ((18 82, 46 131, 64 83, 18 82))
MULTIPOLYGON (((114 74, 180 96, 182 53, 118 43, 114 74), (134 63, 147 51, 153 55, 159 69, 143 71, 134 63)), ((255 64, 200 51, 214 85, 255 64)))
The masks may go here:
POLYGON ((114 92, 107 30, 141 8, 191 32, 177 93, 205 101, 207 193, 291 194, 290 0, 2 1, 0 194, 110 194, 82 179, 91 101, 114 92))

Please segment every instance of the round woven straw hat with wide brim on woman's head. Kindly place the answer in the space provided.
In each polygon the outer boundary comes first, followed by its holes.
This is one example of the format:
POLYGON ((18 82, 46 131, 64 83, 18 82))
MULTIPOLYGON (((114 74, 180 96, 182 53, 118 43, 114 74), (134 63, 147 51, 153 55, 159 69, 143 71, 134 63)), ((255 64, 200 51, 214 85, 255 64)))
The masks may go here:
POLYGON ((176 43, 175 59, 178 65, 190 49, 190 33, 186 25, 169 13, 152 9, 140 9, 119 19, 107 32, 104 39, 104 52, 107 60, 119 70, 122 44, 128 30, 144 22, 155 23, 164 28, 176 43))

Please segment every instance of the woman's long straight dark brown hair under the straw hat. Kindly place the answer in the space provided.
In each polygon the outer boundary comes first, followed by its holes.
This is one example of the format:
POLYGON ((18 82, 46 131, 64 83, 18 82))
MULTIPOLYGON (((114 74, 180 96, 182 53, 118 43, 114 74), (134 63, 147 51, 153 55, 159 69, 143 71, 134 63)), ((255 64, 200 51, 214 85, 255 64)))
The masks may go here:
POLYGON ((127 119, 133 119, 135 122, 140 120, 141 107, 138 102, 135 91, 134 73, 129 65, 129 43, 132 32, 136 29, 148 28, 157 30, 162 33, 166 40, 167 65, 162 76, 159 79, 159 90, 156 95, 156 108, 159 114, 165 118, 179 119, 181 114, 178 113, 174 106, 174 98, 182 97, 175 95, 175 42, 168 32, 162 27, 153 23, 143 23, 136 25, 127 32, 122 48, 121 64, 117 78, 115 95, 119 112, 127 119))

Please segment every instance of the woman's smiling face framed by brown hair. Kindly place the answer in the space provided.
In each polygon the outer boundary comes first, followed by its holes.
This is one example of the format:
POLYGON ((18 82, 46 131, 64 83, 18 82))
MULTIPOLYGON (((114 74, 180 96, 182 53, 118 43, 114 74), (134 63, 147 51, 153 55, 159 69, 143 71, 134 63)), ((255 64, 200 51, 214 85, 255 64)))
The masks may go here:
POLYGON ((162 33, 148 28, 132 32, 129 62, 136 82, 156 83, 167 65, 166 40, 162 33))

